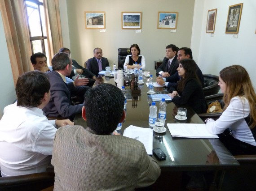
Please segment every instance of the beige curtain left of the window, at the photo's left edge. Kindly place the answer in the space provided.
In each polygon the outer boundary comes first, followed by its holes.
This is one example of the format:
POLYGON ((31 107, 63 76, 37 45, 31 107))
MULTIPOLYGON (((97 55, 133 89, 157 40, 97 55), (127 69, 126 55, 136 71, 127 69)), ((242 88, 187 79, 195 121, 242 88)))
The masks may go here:
POLYGON ((26 8, 23 0, 0 0, 4 33, 6 37, 14 85, 23 72, 33 70, 26 8))

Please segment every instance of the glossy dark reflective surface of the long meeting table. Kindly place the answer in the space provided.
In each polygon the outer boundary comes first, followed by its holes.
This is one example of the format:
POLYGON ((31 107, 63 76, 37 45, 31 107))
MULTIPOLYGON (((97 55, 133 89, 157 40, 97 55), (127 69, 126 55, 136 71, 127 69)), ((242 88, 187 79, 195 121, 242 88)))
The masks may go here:
MULTIPOLYGON (((147 82, 148 79, 143 76, 144 82, 147 82)), ((103 76, 103 81, 104 83, 114 84, 113 78, 109 79, 103 76)), ((149 107, 152 101, 148 98, 146 84, 139 85, 139 88, 141 89, 141 96, 132 97, 130 87, 126 86, 127 116, 122 124, 122 132, 130 125, 149 128, 149 107)), ((157 93, 168 93, 164 87, 155 88, 154 91, 157 93)), ((156 106, 159 108, 159 102, 156 102, 156 106)), ((187 109, 187 119, 185 121, 175 119, 177 107, 180 106, 176 106, 173 102, 167 102, 165 122, 167 131, 161 134, 153 131, 152 135, 153 149, 161 148, 167 155, 166 160, 158 161, 162 171, 224 170, 239 165, 238 161, 234 159, 219 139, 172 137, 167 123, 203 123, 194 110, 187 106, 182 106, 187 109)), ((86 122, 81 116, 76 116, 74 122, 75 125, 86 127, 86 122)), ((154 155, 152 157, 157 161, 154 155)))

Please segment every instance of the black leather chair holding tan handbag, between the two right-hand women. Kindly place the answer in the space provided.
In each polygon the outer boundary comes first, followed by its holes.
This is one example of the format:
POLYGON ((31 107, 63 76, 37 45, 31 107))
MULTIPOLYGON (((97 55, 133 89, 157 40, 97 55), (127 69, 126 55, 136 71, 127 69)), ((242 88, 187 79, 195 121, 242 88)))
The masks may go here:
MULTIPOLYGON (((206 107, 212 103, 215 102, 216 100, 221 103, 221 108, 223 109, 224 107, 224 102, 223 102, 223 95, 224 93, 217 93, 214 95, 206 96, 205 97, 205 102, 206 102, 206 107)), ((217 112, 217 113, 203 113, 203 114, 198 114, 199 117, 204 121, 207 118, 212 118, 214 120, 219 119, 221 116, 222 112, 217 112)))

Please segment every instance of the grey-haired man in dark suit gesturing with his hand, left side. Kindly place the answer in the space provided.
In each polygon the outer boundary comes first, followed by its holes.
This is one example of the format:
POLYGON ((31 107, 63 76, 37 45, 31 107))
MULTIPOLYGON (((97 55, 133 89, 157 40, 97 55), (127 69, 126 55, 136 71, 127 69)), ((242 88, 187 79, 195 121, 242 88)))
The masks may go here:
POLYGON ((53 71, 47 73, 51 84, 51 99, 43 110, 46 115, 73 120, 76 114, 82 112, 83 104, 72 106, 71 94, 84 96, 84 93, 90 89, 90 87, 84 86, 88 83, 88 79, 79 79, 78 84, 75 84, 75 81, 66 84, 65 76, 71 73, 72 60, 64 52, 53 56, 52 66, 53 71))

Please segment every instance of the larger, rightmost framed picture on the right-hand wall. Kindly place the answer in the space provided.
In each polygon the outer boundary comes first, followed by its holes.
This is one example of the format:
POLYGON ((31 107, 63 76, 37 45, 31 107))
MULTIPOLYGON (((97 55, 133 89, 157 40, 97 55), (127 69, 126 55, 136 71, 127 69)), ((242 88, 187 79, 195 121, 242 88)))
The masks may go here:
POLYGON ((243 3, 234 4, 229 7, 227 18, 226 34, 238 34, 243 3))

